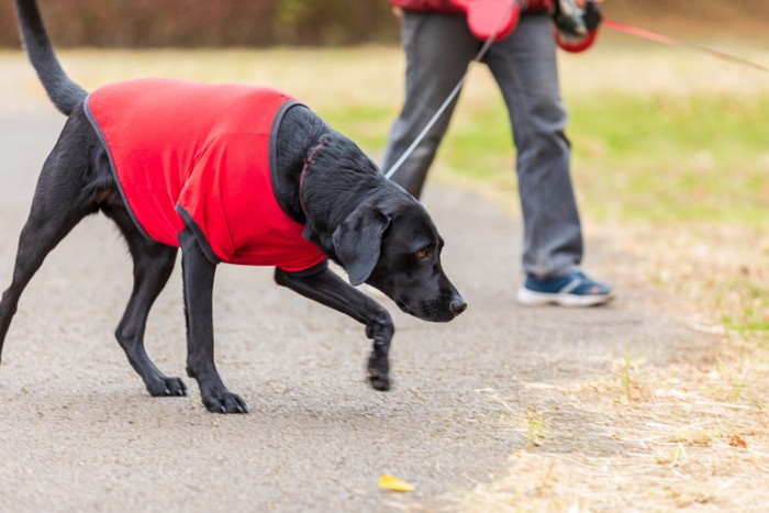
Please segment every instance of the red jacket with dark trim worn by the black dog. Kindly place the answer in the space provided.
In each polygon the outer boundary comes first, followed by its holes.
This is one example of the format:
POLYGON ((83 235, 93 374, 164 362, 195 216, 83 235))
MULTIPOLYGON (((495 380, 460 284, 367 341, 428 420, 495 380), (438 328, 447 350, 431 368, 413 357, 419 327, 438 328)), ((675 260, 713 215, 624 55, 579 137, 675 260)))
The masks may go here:
POLYGON ((85 103, 146 235, 178 247, 188 225, 214 263, 289 272, 325 260, 272 190, 278 126, 296 104, 272 89, 167 79, 104 86, 85 103))

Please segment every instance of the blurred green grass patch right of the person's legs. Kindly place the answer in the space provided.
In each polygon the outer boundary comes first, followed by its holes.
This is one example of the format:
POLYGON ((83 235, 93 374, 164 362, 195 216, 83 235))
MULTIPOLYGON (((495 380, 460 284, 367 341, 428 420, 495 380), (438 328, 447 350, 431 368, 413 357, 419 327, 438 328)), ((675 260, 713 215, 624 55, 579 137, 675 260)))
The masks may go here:
POLYGON ((613 96, 571 112, 591 214, 767 226, 769 96, 613 96))

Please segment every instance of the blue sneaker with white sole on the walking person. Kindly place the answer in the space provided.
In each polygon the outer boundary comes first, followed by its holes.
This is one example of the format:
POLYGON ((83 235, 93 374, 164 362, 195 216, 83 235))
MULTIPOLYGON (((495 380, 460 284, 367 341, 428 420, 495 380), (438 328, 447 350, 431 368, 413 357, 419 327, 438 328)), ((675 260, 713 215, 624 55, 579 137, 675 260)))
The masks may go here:
POLYGON ((517 292, 519 302, 530 305, 597 306, 612 299, 611 287, 591 280, 579 270, 549 280, 527 275, 517 292))

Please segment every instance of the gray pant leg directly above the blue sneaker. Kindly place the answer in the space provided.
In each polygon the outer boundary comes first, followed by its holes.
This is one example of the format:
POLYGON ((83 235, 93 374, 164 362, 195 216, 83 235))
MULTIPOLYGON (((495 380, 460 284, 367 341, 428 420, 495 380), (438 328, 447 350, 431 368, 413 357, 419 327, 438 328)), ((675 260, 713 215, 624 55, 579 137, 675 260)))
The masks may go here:
POLYGON ((484 62, 502 90, 517 149, 523 268, 538 278, 564 275, 579 266, 583 247, 549 18, 521 16, 484 62))

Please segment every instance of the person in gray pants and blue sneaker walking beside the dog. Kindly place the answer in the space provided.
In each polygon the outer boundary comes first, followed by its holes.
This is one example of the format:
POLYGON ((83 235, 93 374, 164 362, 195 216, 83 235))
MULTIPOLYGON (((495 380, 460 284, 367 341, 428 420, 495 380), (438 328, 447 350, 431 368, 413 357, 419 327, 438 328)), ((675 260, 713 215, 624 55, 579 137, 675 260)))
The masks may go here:
MULTIPOLYGON (((406 73, 405 101, 383 157, 386 172, 423 131, 483 45, 468 27, 460 2, 389 1, 402 13, 406 73)), ((553 1, 524 1, 515 29, 489 46, 482 63, 502 92, 516 147, 525 272, 517 300, 524 304, 592 306, 612 300, 613 292, 580 269, 583 241, 570 178, 567 112, 558 85, 553 1)), ((577 3, 582 7, 584 1, 577 3)), ((422 193, 456 101, 392 176, 415 198, 422 193)))

